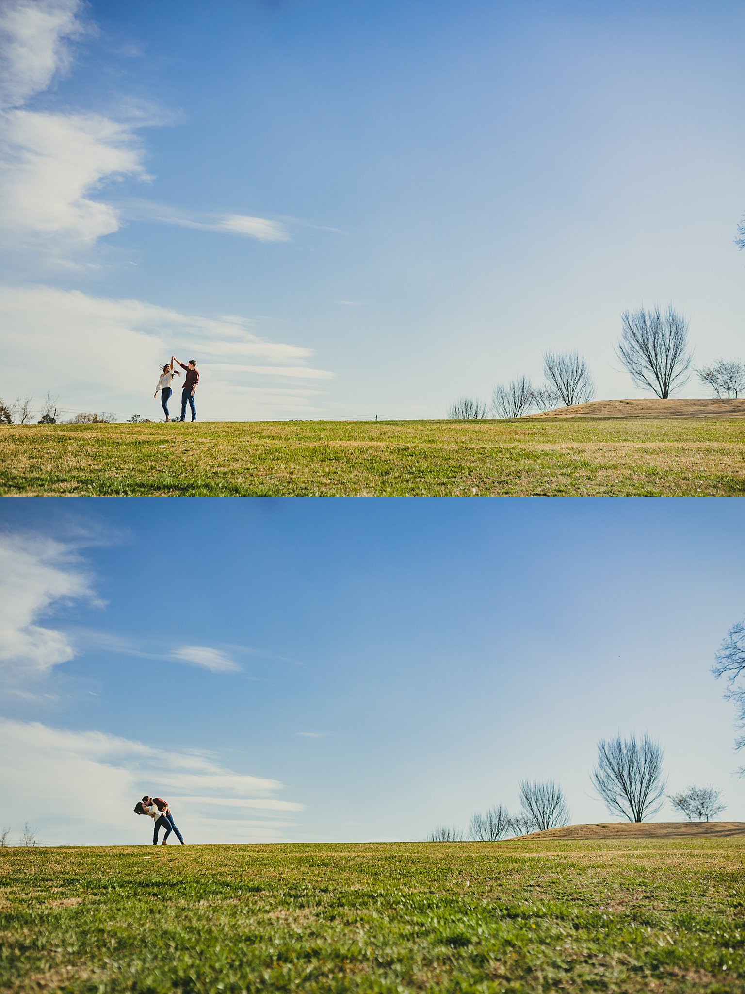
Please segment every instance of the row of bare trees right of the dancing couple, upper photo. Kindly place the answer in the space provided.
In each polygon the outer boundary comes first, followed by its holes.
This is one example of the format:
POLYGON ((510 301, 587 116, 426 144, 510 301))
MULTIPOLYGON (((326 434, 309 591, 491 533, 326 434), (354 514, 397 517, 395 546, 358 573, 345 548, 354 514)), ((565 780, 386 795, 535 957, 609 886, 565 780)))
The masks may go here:
MULTIPOLYGON (((745 243, 744 243, 745 244, 745 243)), ((669 305, 664 310, 627 310, 621 315, 621 335, 615 354, 637 387, 668 400, 690 379, 693 353, 688 344, 688 321, 669 305)), ((719 359, 695 370, 700 383, 720 400, 745 395, 745 363, 719 359)), ((586 404, 595 397, 595 385, 585 359, 577 352, 545 352, 544 383, 534 387, 526 376, 498 384, 491 404, 460 397, 448 417, 479 420, 515 418, 530 411, 551 411, 560 406, 586 404)))

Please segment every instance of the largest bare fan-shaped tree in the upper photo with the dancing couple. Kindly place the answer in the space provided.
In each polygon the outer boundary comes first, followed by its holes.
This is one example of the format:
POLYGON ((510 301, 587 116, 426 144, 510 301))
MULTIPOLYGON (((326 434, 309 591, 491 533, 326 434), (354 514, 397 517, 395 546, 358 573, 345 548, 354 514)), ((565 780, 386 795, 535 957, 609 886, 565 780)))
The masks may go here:
POLYGON ((673 390, 688 382, 692 354, 688 322, 671 306, 624 311, 616 354, 634 383, 667 401, 673 390))

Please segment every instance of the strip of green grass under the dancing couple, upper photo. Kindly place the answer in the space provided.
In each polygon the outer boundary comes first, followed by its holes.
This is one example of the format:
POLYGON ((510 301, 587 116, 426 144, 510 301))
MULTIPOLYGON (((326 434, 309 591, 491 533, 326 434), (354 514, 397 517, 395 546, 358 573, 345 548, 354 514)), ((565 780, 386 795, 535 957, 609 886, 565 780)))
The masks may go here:
POLYGON ((745 418, 0 426, 0 494, 742 496, 745 418))

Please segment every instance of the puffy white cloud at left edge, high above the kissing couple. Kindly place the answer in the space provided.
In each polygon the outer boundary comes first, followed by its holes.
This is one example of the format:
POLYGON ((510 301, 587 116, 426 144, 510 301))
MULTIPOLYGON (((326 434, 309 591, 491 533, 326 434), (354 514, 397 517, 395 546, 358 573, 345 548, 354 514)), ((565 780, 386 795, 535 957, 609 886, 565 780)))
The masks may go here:
POLYGON ((61 604, 91 596, 71 550, 51 539, 0 535, 0 668, 39 676, 74 656, 68 636, 47 624, 61 604))

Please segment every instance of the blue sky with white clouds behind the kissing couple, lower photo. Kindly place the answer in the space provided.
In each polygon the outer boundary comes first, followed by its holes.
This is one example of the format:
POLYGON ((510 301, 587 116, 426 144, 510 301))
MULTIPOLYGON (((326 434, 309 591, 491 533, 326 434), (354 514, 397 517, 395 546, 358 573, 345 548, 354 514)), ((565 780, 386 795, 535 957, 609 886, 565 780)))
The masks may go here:
MULTIPOLYGON (((6 819, 48 842, 422 839, 604 736, 745 820, 710 674, 745 610, 723 500, 6 501, 6 819)), ((666 808, 659 818, 675 815, 666 808)))

